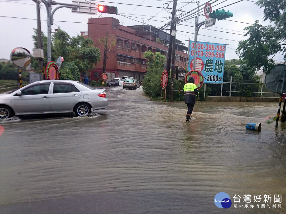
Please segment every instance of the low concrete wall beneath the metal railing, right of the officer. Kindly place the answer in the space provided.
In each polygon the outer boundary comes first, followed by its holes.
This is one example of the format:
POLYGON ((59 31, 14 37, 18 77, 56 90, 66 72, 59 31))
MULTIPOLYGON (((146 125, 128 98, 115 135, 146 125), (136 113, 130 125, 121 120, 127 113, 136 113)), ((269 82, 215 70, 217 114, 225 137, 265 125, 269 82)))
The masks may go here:
POLYGON ((208 102, 263 102, 278 103, 279 97, 209 97, 206 96, 208 102))

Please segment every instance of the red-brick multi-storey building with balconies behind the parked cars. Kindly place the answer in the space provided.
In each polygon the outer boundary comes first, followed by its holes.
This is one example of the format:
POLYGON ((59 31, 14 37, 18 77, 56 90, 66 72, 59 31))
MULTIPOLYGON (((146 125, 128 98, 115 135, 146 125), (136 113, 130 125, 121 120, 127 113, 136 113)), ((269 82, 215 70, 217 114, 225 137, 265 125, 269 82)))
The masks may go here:
MULTIPOLYGON (((133 76, 142 79, 147 69, 147 60, 143 57, 147 50, 153 53, 160 52, 167 57, 169 34, 158 31, 150 25, 120 25, 119 20, 113 17, 88 19, 88 32, 81 32, 84 37, 91 38, 96 47, 100 49, 101 60, 96 64, 96 69, 91 71, 91 81, 98 80, 102 75, 104 43, 100 38, 106 37, 108 41, 116 41, 107 52, 106 73, 108 79, 122 76, 133 76)), ((187 66, 188 48, 176 40, 175 65, 187 66)))

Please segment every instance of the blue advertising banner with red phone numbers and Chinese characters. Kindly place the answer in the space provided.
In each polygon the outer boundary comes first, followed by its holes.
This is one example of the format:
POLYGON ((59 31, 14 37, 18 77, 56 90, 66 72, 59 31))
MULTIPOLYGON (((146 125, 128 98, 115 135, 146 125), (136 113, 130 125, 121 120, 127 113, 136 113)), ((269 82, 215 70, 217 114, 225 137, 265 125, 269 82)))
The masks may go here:
MULTIPOLYGON (((204 76, 204 83, 223 83, 225 44, 197 42, 195 68, 204 76)), ((189 71, 194 68, 194 41, 190 41, 189 71)))

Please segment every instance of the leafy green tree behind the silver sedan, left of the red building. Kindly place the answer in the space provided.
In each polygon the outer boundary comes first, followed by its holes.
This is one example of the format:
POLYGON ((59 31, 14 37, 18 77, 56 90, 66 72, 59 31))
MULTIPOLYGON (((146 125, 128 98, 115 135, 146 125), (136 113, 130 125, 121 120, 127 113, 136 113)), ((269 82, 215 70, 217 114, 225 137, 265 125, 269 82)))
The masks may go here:
MULTIPOLYGON (((37 47, 37 30, 34 29, 34 45, 37 47)), ((44 42, 45 65, 47 64, 47 37, 42 33, 42 41, 44 42)), ((94 43, 90 38, 84 38, 81 35, 70 37, 60 27, 57 33, 52 36, 52 53, 51 59, 55 61, 57 57, 64 58, 61 69, 59 70, 60 79, 80 80, 80 75, 89 75, 89 70, 94 68, 100 60, 100 51, 94 47, 94 43)), ((36 59, 32 59, 32 66, 38 70, 39 63, 36 59)))

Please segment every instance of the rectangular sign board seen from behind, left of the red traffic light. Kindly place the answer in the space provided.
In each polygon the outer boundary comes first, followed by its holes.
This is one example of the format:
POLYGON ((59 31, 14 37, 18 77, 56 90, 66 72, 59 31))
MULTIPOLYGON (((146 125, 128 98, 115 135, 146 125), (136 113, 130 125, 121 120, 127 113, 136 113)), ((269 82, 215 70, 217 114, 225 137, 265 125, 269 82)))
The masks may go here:
POLYGON ((84 13, 97 15, 98 3, 96 1, 72 1, 76 8, 72 8, 72 13, 84 13))

